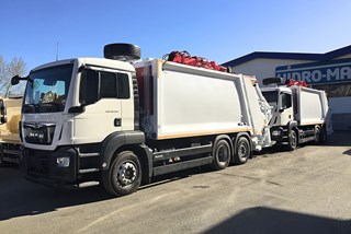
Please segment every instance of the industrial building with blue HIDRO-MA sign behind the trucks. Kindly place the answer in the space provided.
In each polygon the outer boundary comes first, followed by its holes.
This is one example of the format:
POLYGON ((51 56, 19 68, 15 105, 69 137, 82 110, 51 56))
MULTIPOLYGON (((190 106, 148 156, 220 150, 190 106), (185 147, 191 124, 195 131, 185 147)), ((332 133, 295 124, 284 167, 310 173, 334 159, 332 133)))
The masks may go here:
POLYGON ((325 54, 254 51, 223 63, 236 73, 305 81, 325 90, 333 130, 351 130, 351 45, 325 54))

